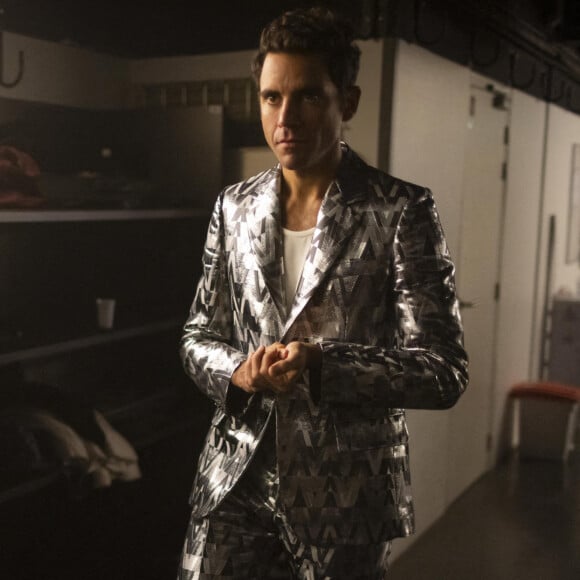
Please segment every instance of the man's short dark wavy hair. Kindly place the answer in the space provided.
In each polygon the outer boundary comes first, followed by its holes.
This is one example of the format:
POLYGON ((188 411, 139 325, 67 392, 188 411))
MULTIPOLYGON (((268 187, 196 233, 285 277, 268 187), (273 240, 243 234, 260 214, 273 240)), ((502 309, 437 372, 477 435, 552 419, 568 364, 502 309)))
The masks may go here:
POLYGON ((332 82, 344 94, 356 83, 360 49, 354 44, 354 29, 328 8, 315 6, 285 12, 268 24, 252 62, 252 76, 260 86, 260 75, 269 52, 319 54, 332 82))

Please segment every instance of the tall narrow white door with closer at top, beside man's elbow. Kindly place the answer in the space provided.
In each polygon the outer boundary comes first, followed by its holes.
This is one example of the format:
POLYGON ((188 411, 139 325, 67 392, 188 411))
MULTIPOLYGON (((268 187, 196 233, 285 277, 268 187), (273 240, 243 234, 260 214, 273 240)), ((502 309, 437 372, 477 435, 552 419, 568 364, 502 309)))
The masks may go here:
POLYGON ((470 383, 451 410, 448 503, 491 467, 508 107, 507 89, 472 76, 457 260, 470 383))

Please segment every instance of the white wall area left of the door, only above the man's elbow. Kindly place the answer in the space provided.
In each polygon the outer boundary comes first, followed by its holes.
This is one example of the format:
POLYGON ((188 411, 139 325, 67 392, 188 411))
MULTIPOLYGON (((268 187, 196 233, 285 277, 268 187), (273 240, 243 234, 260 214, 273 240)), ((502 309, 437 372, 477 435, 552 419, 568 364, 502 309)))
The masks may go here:
POLYGON ((390 171, 433 191, 457 256, 470 73, 403 41, 395 67, 390 171))

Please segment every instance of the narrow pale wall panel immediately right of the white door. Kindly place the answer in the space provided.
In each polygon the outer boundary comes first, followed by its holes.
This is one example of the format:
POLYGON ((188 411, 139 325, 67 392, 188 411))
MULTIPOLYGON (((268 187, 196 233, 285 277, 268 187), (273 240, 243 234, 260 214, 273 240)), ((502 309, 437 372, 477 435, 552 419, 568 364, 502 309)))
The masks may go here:
POLYGON ((493 401, 496 459, 509 443, 509 389, 530 378, 546 107, 512 91, 493 401))

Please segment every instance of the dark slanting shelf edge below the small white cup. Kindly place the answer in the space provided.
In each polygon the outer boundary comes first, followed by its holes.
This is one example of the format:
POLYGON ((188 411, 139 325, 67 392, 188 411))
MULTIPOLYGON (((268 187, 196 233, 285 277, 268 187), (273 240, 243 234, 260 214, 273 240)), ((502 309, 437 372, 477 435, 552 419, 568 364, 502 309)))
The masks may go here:
POLYGON ((179 327, 179 325, 183 324, 183 322, 184 321, 181 318, 170 318, 139 326, 100 331, 94 334, 80 336, 70 340, 62 340, 50 344, 24 347, 5 353, 0 353, 0 366, 19 361, 33 360, 54 354, 73 352, 75 350, 81 350, 102 344, 109 344, 111 342, 126 340, 138 336, 157 334, 158 332, 163 332, 165 330, 175 329, 179 327))

